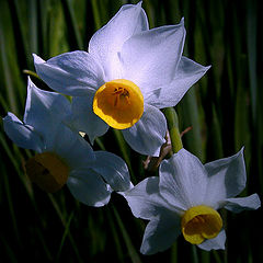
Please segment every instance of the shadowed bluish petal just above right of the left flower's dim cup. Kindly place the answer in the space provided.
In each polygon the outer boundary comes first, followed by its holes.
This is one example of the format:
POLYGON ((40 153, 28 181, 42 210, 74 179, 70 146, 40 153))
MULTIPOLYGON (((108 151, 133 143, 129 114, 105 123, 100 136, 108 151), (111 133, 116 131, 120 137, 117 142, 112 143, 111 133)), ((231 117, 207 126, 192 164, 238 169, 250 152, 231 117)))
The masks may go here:
POLYGON ((78 133, 73 133, 64 124, 57 127, 52 150, 60 156, 72 170, 91 167, 95 160, 91 146, 78 133))

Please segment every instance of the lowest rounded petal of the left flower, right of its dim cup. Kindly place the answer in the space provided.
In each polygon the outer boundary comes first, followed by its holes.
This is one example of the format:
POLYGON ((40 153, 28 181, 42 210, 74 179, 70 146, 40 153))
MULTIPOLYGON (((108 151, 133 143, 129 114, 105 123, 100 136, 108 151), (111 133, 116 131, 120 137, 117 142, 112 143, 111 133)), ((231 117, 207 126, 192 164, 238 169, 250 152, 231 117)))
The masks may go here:
POLYGON ((111 187, 92 169, 71 171, 67 185, 75 198, 89 206, 104 206, 111 198, 111 187))

